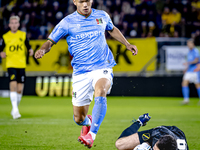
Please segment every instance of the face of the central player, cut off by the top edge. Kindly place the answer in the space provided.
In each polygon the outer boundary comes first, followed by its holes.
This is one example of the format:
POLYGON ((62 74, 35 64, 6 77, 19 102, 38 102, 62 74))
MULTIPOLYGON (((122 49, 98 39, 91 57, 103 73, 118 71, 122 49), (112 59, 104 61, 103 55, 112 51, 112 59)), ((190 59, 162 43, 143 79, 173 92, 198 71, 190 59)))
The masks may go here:
POLYGON ((88 15, 90 13, 93 0, 73 0, 73 2, 81 14, 88 15))

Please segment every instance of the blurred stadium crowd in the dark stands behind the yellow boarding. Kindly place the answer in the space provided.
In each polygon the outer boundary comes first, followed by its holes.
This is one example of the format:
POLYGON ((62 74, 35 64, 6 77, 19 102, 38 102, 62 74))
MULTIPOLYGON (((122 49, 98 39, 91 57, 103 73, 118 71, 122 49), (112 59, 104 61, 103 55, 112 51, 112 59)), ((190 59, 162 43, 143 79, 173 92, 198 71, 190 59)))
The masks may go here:
MULTIPOLYGON (((192 37, 200 44, 199 0, 93 0, 126 37, 192 37)), ((76 10, 73 0, 1 1, 0 31, 11 15, 21 18, 29 39, 46 39, 54 26, 76 10)), ((1 34, 3 34, 1 33, 1 34)))

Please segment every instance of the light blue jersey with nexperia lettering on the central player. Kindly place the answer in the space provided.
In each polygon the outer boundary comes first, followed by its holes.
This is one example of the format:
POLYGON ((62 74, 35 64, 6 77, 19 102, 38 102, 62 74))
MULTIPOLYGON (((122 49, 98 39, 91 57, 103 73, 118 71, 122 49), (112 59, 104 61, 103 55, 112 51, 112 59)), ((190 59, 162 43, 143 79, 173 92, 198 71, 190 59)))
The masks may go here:
POLYGON ((113 27, 109 15, 102 10, 92 9, 88 17, 76 11, 63 18, 48 39, 57 43, 66 37, 73 73, 77 75, 116 65, 105 38, 105 30, 113 27))

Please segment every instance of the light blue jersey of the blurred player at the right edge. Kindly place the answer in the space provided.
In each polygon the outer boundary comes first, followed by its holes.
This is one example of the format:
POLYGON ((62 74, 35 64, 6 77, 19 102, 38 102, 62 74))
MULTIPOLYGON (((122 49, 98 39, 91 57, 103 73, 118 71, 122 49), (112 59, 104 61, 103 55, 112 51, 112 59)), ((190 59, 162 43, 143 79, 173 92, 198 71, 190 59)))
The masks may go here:
MULTIPOLYGON (((197 48, 193 48, 192 50, 190 50, 189 53, 188 53, 188 56, 187 56, 188 62, 194 61, 195 58, 199 59, 199 50, 197 48)), ((190 64, 188 66, 187 72, 194 72, 194 69, 196 69, 198 63, 190 64)))

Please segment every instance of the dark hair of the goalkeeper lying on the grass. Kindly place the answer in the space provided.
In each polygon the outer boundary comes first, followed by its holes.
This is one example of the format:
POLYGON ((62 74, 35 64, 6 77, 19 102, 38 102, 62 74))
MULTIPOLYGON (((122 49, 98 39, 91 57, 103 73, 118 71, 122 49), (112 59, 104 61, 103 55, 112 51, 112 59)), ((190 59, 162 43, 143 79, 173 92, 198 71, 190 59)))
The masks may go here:
POLYGON ((176 139, 171 135, 164 135, 156 144, 160 150, 177 150, 176 139))

